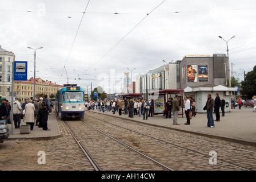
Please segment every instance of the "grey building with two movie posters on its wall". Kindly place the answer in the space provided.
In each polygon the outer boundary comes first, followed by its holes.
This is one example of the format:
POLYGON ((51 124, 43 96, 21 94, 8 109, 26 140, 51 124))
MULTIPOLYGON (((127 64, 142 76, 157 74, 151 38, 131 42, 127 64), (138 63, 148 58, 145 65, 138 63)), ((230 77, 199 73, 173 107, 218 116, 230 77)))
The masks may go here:
POLYGON ((205 84, 227 86, 228 64, 225 54, 187 55, 180 63, 181 89, 205 84), (226 79, 227 78, 227 79, 226 79))

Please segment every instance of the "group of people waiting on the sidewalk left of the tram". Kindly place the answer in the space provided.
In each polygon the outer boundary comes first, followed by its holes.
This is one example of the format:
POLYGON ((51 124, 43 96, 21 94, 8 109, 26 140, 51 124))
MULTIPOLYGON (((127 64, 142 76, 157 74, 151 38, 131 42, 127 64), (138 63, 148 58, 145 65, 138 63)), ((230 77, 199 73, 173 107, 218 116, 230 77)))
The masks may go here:
MULTIPOLYGON (((0 104, 1 121, 5 124, 10 123, 10 101, 1 97, 0 104)), ((30 125, 30 130, 34 129, 34 124, 35 126, 42 127, 42 130, 50 130, 47 127, 47 121, 51 108, 53 108, 53 103, 49 100, 47 95, 45 95, 44 98, 35 98, 35 100, 31 97, 30 99, 26 99, 25 102, 21 102, 20 98, 15 100, 13 102, 13 120, 15 129, 20 128, 23 119, 23 122, 30 125)))

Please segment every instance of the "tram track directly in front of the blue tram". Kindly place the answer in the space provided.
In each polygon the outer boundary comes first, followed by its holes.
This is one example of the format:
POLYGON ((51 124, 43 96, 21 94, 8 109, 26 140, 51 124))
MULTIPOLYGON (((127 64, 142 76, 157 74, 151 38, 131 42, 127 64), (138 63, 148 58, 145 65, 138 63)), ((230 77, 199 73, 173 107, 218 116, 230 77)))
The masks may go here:
MULTIPOLYGON (((70 126, 70 125, 73 125, 73 122, 74 122, 74 121, 70 121, 70 122, 69 122, 69 121, 65 121, 65 124, 66 124, 66 126, 69 128, 69 131, 70 131, 71 135, 74 137, 74 139, 75 139, 75 141, 78 143, 79 147, 81 147, 81 150, 82 150, 82 151, 84 152, 84 154, 86 155, 86 158, 89 159, 89 161, 90 161, 91 165, 94 167, 94 169, 95 169, 96 171, 101 171, 101 170, 102 170, 102 167, 100 167, 100 166, 103 166, 103 170, 112 170, 112 169, 106 168, 106 166, 108 166, 107 164, 102 164, 101 162, 98 162, 98 161, 97 161, 97 160, 99 160, 98 156, 93 156, 93 154, 95 154, 96 151, 90 151, 90 152, 89 152, 89 150, 88 150, 89 146, 88 146, 88 145, 86 146, 85 144, 83 144, 83 143, 85 143, 85 142, 82 141, 81 134, 75 134, 77 131, 74 131, 74 128, 72 129, 72 126, 70 126), (99 163, 101 163, 101 164, 99 164, 99 163)), ((93 129, 93 130, 95 130, 95 131, 98 131, 98 132, 101 133, 102 135, 105 135, 106 137, 111 138, 111 140, 115 141, 115 142, 118 143, 119 145, 122 145, 123 147, 128 148, 129 150, 131 150, 131 151, 137 153, 138 155, 140 155, 142 158, 144 158, 144 159, 146 159, 146 160, 150 160, 151 163, 154 163, 154 165, 158 166, 157 168, 155 168, 153 164, 150 164, 150 167, 147 168, 147 169, 151 169, 151 170, 169 170, 169 171, 173 171, 173 169, 171 169, 171 168, 169 168, 169 167, 167 167, 167 166, 165 166, 165 165, 163 165, 163 164, 157 162, 157 160, 154 160, 154 159, 150 158, 149 156, 147 156, 147 155, 145 155, 145 154, 142 154, 141 152, 139 152, 139 151, 135 150, 133 147, 128 146, 127 144, 125 144, 125 143, 119 141, 118 139, 115 139, 114 137, 111 137, 110 135, 106 134, 104 131, 97 129, 97 127, 94 127, 94 126, 90 125, 89 123, 84 123, 84 122, 82 122, 82 121, 81 121, 81 123, 83 123, 83 125, 89 126, 91 129, 93 129)), ((80 125, 80 126, 81 126, 81 125, 80 125)), ((82 127, 81 127, 81 128, 82 128, 82 127)), ((98 136, 98 137, 99 137, 99 136, 98 136)), ((101 138, 101 139, 102 139, 102 138, 101 138)), ((98 143, 98 145, 100 146, 101 144, 98 143)), ((119 147, 118 147, 118 148, 119 148, 119 147)), ((133 155, 131 155, 131 158, 133 158, 133 155)), ((138 158, 138 156, 136 156, 136 158, 138 158)), ((136 158, 134 158, 135 161, 136 161, 136 158)), ((131 162, 129 162, 129 163, 131 163, 131 162)), ((135 163, 136 163, 136 162, 135 162, 135 163)), ((143 162, 143 163, 145 163, 145 162, 143 162)), ((129 166, 129 165, 134 165, 134 164, 124 164, 123 166, 127 167, 127 166, 129 166)), ((145 163, 145 164, 140 164, 139 166, 145 166, 145 165, 147 165, 147 164, 146 164, 146 163, 145 163)), ((111 166, 111 165, 110 165, 110 166, 111 166)), ((122 168, 118 168, 118 170, 119 170, 119 169, 122 169, 122 168)), ((125 170, 127 170, 127 169, 133 170, 133 168, 124 168, 124 169, 125 169, 125 170)), ((137 170, 138 170, 138 169, 142 170, 143 167, 142 167, 142 168, 135 167, 134 170, 136 170, 136 169, 137 169, 137 170)))

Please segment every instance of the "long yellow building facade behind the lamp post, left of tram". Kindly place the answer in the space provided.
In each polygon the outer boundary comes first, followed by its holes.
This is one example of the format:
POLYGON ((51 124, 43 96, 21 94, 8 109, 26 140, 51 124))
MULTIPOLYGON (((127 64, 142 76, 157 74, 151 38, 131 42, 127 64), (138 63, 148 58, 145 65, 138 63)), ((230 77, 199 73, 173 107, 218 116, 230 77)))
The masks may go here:
MULTIPOLYGON (((35 94, 39 96, 40 94, 47 96, 55 96, 57 90, 63 87, 63 85, 58 85, 52 83, 51 81, 44 81, 42 78, 35 78, 35 94)), ((14 82, 14 92, 17 93, 16 98, 21 98, 25 101, 26 98, 34 96, 34 78, 30 78, 27 81, 15 81, 14 82)))

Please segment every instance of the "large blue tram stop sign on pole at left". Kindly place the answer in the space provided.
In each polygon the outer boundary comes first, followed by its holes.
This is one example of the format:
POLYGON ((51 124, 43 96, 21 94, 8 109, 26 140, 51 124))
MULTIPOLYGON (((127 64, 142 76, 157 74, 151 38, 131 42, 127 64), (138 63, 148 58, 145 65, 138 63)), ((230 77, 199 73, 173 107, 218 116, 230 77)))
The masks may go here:
POLYGON ((14 61, 14 81, 27 81, 27 61, 14 61))

